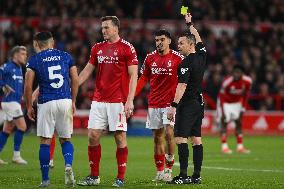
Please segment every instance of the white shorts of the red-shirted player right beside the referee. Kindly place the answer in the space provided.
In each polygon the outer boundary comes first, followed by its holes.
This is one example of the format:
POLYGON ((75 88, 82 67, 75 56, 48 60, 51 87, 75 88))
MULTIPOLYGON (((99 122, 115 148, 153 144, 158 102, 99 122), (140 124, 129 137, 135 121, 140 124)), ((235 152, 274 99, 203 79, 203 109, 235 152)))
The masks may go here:
POLYGON ((168 120, 167 113, 169 107, 167 108, 148 108, 146 128, 148 129, 161 129, 166 125, 174 126, 174 122, 168 120))

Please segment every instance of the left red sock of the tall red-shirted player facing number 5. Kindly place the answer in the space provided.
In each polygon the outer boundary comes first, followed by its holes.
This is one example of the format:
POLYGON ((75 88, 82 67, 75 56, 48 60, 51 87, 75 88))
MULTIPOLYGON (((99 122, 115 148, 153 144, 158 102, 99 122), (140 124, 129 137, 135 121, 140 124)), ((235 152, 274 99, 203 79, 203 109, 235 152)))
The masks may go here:
POLYGON ((91 176, 100 175, 101 145, 88 147, 91 176))

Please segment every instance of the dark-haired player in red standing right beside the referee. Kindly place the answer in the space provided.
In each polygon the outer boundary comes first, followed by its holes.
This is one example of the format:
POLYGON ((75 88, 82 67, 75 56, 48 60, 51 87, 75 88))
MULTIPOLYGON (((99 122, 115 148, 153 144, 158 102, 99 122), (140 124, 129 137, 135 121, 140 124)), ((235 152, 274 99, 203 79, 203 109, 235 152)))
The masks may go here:
POLYGON ((174 122, 167 119, 167 110, 175 96, 178 83, 177 68, 183 56, 170 49, 171 35, 167 30, 155 32, 155 42, 157 50, 146 56, 136 95, 150 80, 146 127, 152 129, 154 135, 154 160, 157 168, 155 180, 169 182, 172 180, 175 141, 174 122), (165 154, 164 138, 166 138, 167 154, 165 154))

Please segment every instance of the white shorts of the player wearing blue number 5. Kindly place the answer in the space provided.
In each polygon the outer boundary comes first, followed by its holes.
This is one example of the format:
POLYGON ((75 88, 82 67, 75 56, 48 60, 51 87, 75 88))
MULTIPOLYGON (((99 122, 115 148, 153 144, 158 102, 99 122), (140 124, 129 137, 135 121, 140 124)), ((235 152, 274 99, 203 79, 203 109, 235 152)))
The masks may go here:
POLYGON ((71 99, 52 100, 38 104, 37 136, 52 138, 54 129, 60 138, 71 138, 73 133, 71 99))

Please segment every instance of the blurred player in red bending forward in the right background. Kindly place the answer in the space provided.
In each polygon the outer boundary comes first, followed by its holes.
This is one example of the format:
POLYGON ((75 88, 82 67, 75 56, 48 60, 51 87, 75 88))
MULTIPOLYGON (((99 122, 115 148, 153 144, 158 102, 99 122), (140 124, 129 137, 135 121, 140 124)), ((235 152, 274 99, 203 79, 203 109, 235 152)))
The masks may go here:
POLYGON ((236 124, 237 152, 250 152, 243 145, 241 121, 251 84, 251 78, 244 75, 241 65, 235 65, 232 76, 225 78, 222 83, 217 100, 217 122, 221 124, 222 152, 225 154, 232 153, 227 144, 227 124, 230 121, 236 124))

